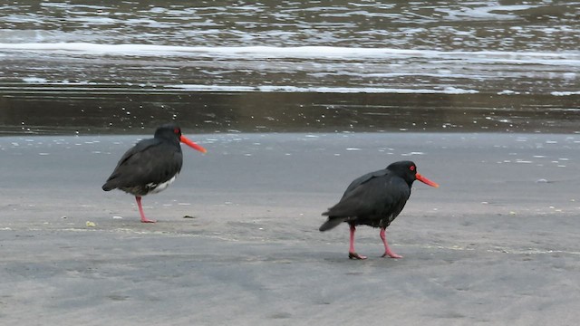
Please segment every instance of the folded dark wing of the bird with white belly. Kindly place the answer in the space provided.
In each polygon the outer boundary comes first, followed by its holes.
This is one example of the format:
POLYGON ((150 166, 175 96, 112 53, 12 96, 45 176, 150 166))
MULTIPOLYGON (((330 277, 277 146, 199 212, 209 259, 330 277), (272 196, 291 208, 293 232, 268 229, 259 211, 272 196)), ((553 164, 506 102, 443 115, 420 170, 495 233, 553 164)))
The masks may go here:
POLYGON ((145 139, 127 150, 103 189, 159 184, 179 173, 183 163, 181 152, 162 144, 158 139, 145 139))

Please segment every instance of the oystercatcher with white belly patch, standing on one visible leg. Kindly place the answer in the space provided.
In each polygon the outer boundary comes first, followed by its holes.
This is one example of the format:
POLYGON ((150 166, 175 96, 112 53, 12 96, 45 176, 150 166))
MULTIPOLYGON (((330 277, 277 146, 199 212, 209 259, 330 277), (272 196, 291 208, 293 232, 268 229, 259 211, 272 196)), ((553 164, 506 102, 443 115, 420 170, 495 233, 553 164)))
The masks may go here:
POLYGON ((141 222, 155 223, 143 214, 141 196, 158 193, 175 181, 183 165, 179 142, 206 152, 206 149, 182 136, 177 124, 164 124, 155 130, 152 139, 141 140, 123 154, 111 177, 102 185, 102 190, 119 188, 135 196, 141 222))

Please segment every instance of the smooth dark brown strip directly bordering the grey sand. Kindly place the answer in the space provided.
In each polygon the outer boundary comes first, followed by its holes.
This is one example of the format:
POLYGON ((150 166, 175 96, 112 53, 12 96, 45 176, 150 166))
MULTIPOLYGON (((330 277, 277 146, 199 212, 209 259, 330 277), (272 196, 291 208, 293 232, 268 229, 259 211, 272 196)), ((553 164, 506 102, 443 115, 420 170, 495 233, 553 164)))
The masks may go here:
POLYGON ((570 96, 31 91, 0 103, 5 134, 145 133, 168 120, 218 133, 580 132, 570 96))

